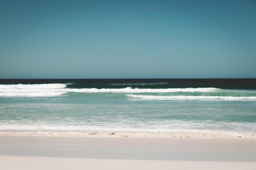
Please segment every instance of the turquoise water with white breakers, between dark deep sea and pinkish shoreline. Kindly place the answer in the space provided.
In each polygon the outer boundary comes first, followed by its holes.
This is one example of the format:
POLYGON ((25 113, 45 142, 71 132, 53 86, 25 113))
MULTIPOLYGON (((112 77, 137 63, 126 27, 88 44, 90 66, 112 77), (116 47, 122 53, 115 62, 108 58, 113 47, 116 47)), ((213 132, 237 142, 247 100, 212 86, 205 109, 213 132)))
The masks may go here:
POLYGON ((256 90, 153 85, 0 85, 0 131, 256 134, 256 90))

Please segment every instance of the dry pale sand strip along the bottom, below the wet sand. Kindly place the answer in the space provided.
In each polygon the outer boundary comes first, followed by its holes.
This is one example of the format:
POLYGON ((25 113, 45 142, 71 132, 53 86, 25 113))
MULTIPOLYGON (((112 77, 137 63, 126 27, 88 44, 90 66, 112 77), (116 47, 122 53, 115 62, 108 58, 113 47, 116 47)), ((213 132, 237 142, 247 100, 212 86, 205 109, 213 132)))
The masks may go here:
POLYGON ((1 170, 255 170, 255 162, 0 156, 1 170))

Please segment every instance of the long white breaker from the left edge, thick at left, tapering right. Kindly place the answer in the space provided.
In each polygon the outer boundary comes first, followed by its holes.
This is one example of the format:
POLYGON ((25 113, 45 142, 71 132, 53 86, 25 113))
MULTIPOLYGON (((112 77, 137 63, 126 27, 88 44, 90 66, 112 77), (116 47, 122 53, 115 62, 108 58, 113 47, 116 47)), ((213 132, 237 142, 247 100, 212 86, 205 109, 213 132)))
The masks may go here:
POLYGON ((67 92, 77 93, 171 93, 171 92, 210 92, 218 88, 66 88, 67 84, 0 85, 0 96, 59 96, 67 92))

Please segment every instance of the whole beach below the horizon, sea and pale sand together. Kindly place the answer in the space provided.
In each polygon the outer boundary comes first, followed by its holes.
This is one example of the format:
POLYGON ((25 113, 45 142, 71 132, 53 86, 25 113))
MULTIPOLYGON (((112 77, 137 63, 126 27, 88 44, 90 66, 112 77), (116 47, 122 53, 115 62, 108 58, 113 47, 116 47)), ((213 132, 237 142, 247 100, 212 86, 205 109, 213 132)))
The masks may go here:
POLYGON ((255 83, 1 80, 0 169, 256 170, 255 83))

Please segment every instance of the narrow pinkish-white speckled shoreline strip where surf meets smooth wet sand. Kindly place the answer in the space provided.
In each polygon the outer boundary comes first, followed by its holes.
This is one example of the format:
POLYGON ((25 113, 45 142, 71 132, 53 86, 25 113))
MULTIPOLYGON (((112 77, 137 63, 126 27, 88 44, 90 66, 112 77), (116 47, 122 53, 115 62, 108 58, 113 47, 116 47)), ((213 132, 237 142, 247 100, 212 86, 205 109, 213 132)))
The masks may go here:
POLYGON ((2 130, 0 136, 69 136, 164 139, 256 139, 256 134, 231 132, 127 132, 127 131, 18 131, 2 130))

